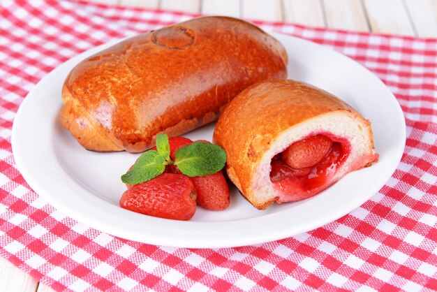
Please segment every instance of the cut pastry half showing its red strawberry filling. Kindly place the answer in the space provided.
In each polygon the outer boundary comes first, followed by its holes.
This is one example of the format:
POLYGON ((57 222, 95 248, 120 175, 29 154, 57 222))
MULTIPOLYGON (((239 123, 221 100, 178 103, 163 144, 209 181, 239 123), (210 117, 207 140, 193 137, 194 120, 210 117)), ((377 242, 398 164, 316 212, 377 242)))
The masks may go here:
POLYGON ((314 196, 378 160, 371 124, 350 105, 304 82, 267 80, 225 108, 214 131, 226 171, 258 209, 314 196))

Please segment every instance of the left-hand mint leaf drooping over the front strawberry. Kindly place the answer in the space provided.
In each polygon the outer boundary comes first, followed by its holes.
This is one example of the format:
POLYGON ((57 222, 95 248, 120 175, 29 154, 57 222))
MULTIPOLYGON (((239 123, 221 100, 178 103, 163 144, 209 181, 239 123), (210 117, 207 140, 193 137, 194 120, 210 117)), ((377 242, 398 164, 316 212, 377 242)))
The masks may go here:
POLYGON ((147 182, 165 170, 165 156, 155 150, 149 150, 141 154, 132 169, 121 175, 121 181, 125 184, 140 184, 147 182))

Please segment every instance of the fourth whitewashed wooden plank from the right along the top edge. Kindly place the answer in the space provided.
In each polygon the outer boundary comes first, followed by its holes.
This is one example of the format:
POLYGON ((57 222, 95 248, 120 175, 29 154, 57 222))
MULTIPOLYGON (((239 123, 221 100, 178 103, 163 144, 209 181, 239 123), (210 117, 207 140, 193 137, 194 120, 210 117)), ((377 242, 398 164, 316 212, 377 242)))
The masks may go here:
POLYGON ((320 0, 283 0, 286 22, 325 27, 323 8, 320 0))

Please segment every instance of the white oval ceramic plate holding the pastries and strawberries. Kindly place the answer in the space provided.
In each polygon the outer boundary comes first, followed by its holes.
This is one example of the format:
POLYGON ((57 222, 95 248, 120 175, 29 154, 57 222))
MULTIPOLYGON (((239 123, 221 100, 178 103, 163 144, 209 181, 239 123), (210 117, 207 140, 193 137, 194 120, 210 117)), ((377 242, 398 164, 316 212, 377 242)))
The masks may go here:
MULTIPOLYGON (((327 224, 362 205, 383 187, 401 159, 405 120, 396 98, 375 75, 348 57, 292 36, 274 34, 287 49, 289 78, 321 87, 370 119, 380 160, 346 175, 323 193, 297 203, 256 210, 231 189, 223 212, 198 207, 191 221, 149 217, 119 207, 120 181, 138 155, 83 149, 59 123, 61 87, 84 52, 45 76, 29 92, 15 117, 12 146, 24 179, 54 207, 112 235, 173 247, 236 247, 287 238, 327 224)), ((214 124, 186 134, 212 139, 214 124)))

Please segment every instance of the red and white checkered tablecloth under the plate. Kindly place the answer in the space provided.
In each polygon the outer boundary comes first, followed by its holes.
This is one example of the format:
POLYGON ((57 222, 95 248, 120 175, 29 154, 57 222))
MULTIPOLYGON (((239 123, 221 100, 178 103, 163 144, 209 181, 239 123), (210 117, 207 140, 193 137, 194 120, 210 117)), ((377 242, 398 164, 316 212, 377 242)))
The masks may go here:
POLYGON ((258 22, 359 61, 397 96, 407 143, 364 205, 301 235, 227 249, 158 247, 66 217, 15 168, 10 135, 36 82, 76 54, 193 15, 81 1, 0 2, 0 255, 57 290, 437 290, 437 40, 258 22))

